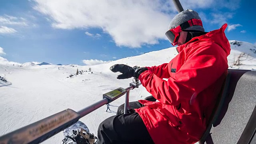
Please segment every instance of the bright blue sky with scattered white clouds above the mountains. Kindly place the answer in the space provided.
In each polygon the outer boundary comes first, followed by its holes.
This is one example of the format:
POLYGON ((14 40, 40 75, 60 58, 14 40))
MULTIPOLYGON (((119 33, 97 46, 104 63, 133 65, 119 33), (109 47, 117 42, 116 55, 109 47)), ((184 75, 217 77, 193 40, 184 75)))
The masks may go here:
MULTIPOLYGON (((256 43, 252 0, 180 0, 206 31, 228 23, 228 40, 256 43)), ((172 0, 1 0, 0 56, 5 61, 93 65, 172 45, 165 32, 172 0)), ((1 60, 1 58, 0 58, 1 60)))

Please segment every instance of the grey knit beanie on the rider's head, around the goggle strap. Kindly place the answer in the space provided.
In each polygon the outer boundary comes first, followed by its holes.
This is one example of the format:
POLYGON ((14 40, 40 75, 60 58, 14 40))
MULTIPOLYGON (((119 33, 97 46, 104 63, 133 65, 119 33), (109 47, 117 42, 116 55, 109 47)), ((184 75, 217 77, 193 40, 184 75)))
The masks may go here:
MULTIPOLYGON (((201 20, 201 18, 198 16, 198 13, 191 9, 187 9, 187 10, 184 10, 184 11, 178 13, 176 16, 174 16, 174 18, 170 22, 169 30, 172 29, 172 27, 176 28, 180 24, 182 24, 192 18, 201 20)), ((185 30, 199 30, 201 32, 204 32, 204 28, 202 26, 190 26, 189 28, 187 28, 185 30)))

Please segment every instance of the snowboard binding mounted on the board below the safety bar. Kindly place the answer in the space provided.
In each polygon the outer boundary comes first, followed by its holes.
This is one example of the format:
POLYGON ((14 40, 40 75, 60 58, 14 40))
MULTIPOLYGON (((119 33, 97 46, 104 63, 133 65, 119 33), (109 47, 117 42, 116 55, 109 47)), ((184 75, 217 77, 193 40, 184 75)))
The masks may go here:
POLYGON ((76 144, 96 144, 97 137, 94 136, 94 134, 91 134, 90 132, 84 130, 82 127, 80 127, 79 130, 73 130, 73 136, 66 136, 62 140, 63 144, 67 144, 67 140, 70 138, 73 142, 76 142, 76 144))

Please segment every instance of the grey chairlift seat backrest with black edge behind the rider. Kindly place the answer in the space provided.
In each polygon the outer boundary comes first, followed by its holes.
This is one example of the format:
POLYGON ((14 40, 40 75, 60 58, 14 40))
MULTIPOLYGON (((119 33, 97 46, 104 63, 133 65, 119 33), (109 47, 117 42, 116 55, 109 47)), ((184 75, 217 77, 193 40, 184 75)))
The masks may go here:
POLYGON ((214 144, 249 144, 256 139, 256 71, 228 72, 228 93, 212 123, 211 138, 214 144))

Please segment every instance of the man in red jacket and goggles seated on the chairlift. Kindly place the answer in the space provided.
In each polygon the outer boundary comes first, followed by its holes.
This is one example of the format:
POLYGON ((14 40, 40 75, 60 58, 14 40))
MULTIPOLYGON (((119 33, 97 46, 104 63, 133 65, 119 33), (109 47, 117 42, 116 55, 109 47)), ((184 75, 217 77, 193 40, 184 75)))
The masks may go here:
POLYGON ((198 13, 187 9, 176 15, 166 36, 178 55, 169 63, 152 67, 115 64, 118 79, 137 78, 159 102, 130 102, 134 113, 104 120, 98 128, 98 144, 193 144, 198 142, 226 78, 230 44, 227 24, 204 32, 198 13), (163 80, 168 78, 168 80, 163 80))

